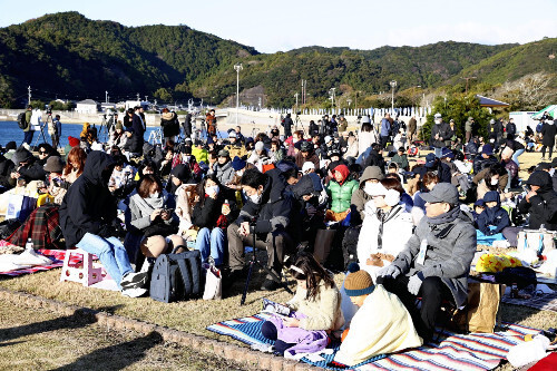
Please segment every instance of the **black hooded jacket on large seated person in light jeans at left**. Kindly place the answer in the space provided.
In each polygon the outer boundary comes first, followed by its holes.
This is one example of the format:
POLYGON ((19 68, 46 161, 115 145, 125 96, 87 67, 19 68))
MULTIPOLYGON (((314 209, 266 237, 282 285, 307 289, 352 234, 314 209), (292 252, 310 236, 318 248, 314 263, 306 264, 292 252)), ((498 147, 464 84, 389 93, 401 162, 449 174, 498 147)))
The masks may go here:
POLYGON ((109 155, 94 150, 87 156, 84 174, 71 185, 59 209, 66 246, 74 247, 86 233, 109 237, 116 217, 116 201, 108 191, 114 168, 109 155))

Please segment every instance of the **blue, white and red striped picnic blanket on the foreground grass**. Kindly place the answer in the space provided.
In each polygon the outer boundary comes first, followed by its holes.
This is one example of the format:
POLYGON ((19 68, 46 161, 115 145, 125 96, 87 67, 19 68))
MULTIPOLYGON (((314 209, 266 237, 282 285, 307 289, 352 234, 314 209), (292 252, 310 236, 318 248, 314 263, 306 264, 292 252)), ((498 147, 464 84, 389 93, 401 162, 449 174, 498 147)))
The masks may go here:
MULTIPOLYGON (((250 345, 270 344, 272 341, 261 334, 261 326, 268 318, 268 314, 258 313, 248 318, 218 322, 209 325, 207 330, 232 336, 250 345)), ((461 335, 444 331, 443 340, 439 344, 429 343, 397 354, 379 355, 350 370, 492 370, 506 359, 511 346, 522 342, 526 334, 539 333, 539 330, 518 324, 505 323, 505 325, 504 332, 496 333, 461 335)), ((333 343, 329 348, 336 351, 339 343, 333 343)), ((307 358, 303 358, 302 361, 336 370, 328 367, 334 353, 321 354, 321 357, 324 361, 312 362, 307 358)))

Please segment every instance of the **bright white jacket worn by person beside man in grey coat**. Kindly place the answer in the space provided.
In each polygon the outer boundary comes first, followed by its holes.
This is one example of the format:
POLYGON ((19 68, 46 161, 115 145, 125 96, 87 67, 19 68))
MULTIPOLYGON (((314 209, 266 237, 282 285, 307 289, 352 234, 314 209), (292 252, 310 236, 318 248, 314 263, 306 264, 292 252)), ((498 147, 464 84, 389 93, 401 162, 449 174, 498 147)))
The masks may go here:
MULTIPOLYGON (((391 209, 387 222, 383 224, 382 248, 378 248, 380 221, 373 199, 365 203, 365 217, 363 218, 362 230, 358 238, 358 260, 360 261, 360 267, 370 273, 373 281, 375 280, 377 271, 381 267, 365 264, 370 255, 383 253, 397 257, 404 250, 408 240, 412 236, 412 216, 404 208, 404 205, 398 204, 391 209)), ((388 265, 390 263, 383 261, 383 264, 388 265)))

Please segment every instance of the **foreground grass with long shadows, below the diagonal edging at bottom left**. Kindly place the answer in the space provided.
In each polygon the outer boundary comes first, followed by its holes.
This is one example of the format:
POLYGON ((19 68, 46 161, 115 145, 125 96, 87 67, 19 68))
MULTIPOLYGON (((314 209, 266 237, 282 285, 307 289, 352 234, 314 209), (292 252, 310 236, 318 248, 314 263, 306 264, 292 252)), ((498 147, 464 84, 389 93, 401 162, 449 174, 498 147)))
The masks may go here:
POLYGON ((240 370, 216 358, 81 316, 0 303, 1 370, 240 370))

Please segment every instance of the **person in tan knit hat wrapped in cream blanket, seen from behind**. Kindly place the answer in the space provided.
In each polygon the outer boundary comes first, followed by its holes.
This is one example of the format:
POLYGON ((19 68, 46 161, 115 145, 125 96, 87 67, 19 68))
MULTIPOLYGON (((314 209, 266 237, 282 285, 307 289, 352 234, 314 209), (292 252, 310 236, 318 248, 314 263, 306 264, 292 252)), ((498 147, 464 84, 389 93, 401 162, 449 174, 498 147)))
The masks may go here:
POLYGON ((353 367, 374 355, 421 346, 422 339, 401 300, 383 285, 374 285, 370 274, 358 264, 351 264, 349 271, 344 293, 359 309, 350 329, 344 330, 334 362, 353 367))

